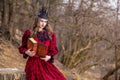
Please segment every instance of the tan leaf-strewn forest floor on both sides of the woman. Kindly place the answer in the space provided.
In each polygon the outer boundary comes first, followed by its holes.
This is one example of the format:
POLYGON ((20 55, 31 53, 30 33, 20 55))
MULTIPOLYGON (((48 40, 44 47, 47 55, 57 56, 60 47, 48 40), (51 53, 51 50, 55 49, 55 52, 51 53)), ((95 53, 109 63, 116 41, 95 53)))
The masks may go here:
MULTIPOLYGON (((0 68, 22 68, 24 69, 27 59, 19 53, 18 48, 13 46, 10 41, 0 38, 0 68)), ((103 76, 101 70, 90 69, 81 75, 78 75, 75 69, 69 70, 63 66, 57 59, 54 63, 59 70, 67 77, 67 80, 100 80, 103 76)), ((109 79, 109 80, 114 80, 109 79)))

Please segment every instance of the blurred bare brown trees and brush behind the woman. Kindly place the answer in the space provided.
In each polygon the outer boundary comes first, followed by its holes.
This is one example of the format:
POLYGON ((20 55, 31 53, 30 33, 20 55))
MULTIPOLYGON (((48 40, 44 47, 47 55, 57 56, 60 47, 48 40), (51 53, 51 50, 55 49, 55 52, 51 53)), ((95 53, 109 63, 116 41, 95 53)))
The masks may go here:
POLYGON ((0 0, 0 40, 18 48, 43 4, 74 80, 120 80, 120 0, 0 0))

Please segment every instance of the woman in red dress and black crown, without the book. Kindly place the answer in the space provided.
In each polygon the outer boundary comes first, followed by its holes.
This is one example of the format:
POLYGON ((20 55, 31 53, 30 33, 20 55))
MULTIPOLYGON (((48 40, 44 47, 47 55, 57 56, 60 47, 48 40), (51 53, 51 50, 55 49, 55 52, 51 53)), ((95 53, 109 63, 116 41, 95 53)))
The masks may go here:
POLYGON ((28 57, 25 72, 27 80, 66 80, 63 74, 53 65, 54 56, 58 53, 56 34, 48 24, 48 14, 42 8, 39 12, 33 30, 26 30, 22 37, 19 52, 28 57), (38 43, 47 46, 47 55, 43 58, 34 51, 27 49, 27 40, 33 37, 38 43))

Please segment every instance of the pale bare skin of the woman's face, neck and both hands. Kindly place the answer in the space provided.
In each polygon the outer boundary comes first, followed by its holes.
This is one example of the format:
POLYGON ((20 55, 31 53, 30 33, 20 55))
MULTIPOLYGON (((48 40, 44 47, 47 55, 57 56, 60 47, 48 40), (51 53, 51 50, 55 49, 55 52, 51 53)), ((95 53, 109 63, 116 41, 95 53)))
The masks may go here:
MULTIPOLYGON (((38 25, 40 26, 39 31, 43 31, 43 28, 47 25, 47 21, 48 21, 47 19, 43 19, 43 18, 38 19, 38 25)), ((30 57, 33 57, 36 53, 28 49, 27 51, 25 51, 25 54, 27 54, 30 57)), ((40 59, 44 61, 48 61, 50 58, 51 56, 46 55, 45 58, 40 58, 40 59)))

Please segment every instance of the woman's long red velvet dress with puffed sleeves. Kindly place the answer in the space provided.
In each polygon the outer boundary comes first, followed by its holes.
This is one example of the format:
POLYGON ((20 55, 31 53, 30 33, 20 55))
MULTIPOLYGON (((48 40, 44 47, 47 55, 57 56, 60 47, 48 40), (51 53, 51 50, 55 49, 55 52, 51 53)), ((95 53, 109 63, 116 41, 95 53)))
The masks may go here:
POLYGON ((25 72, 27 80, 66 80, 63 74, 56 68, 53 63, 53 56, 58 53, 56 47, 56 35, 53 33, 51 35, 52 40, 40 40, 36 36, 34 39, 38 43, 45 44, 47 46, 47 55, 52 56, 52 58, 45 62, 41 60, 40 57, 36 54, 33 57, 29 57, 25 54, 27 50, 27 40, 30 37, 31 30, 26 30, 22 37, 22 45, 19 47, 19 52, 23 54, 24 58, 28 57, 26 62, 25 72))

